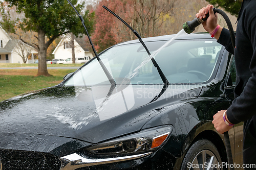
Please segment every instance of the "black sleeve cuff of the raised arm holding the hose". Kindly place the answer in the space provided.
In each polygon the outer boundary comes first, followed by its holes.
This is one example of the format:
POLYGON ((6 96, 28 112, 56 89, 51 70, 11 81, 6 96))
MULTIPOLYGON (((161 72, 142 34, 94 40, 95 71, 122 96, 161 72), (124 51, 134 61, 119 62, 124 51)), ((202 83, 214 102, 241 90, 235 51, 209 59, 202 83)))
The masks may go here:
POLYGON ((225 29, 225 28, 222 29, 220 38, 218 39, 217 42, 219 42, 220 44, 225 46, 226 50, 229 53, 234 54, 234 49, 233 49, 230 33, 227 29, 225 29))

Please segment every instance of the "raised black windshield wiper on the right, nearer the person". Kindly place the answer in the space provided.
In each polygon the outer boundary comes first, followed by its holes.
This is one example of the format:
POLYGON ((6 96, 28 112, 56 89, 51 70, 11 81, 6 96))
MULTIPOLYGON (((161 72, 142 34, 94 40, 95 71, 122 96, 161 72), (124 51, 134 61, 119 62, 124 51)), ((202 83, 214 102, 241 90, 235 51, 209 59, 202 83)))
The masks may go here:
MULTIPOLYGON (((125 24, 125 26, 127 26, 130 30, 132 30, 132 32, 138 37, 140 43, 141 43, 141 44, 143 45, 143 47, 145 48, 145 50, 146 50, 148 56, 151 56, 150 51, 148 51, 148 48, 146 47, 145 43, 144 43, 143 40, 141 39, 141 36, 139 35, 139 33, 138 33, 136 30, 134 30, 131 26, 129 26, 128 23, 126 23, 122 18, 120 18, 117 14, 115 14, 115 13, 114 13, 113 11, 111 11, 109 8, 107 8, 106 6, 102 6, 102 7, 103 7, 105 10, 109 11, 111 14, 113 14, 115 17, 117 17, 120 21, 122 21, 122 22, 125 24)), ((153 62, 154 66, 157 68, 157 71, 158 71, 158 73, 159 73, 159 75, 160 75, 160 77, 161 77, 161 79, 162 79, 164 85, 166 86, 165 88, 167 88, 170 83, 168 82, 168 80, 166 79, 165 75, 163 74, 163 71, 161 70, 161 68, 159 67, 159 65, 157 64, 156 60, 155 60, 153 57, 151 58, 151 61, 153 62)))

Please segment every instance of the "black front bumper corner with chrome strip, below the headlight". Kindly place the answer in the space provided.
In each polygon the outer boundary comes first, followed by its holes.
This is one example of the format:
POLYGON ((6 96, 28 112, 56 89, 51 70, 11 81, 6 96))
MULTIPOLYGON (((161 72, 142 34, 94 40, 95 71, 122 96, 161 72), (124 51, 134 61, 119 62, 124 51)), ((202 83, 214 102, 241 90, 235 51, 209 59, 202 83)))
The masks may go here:
POLYGON ((156 152, 117 158, 92 159, 78 154, 60 158, 61 170, 73 169, 173 169, 176 158, 160 149, 156 152))

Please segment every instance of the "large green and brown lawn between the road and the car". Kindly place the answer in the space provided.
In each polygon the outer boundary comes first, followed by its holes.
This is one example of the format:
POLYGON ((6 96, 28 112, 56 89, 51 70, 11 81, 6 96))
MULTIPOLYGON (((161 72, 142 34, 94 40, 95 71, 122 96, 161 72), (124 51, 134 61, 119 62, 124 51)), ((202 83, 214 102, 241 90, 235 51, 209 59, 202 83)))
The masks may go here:
POLYGON ((37 69, 0 69, 0 102, 18 94, 51 87, 75 69, 49 69, 50 77, 38 76, 37 69))

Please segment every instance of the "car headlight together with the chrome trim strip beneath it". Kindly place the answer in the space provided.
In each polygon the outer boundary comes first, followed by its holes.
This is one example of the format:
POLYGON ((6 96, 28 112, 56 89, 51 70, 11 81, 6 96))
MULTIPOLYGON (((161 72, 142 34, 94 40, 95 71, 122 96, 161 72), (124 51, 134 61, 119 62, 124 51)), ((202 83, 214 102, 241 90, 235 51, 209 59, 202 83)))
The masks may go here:
POLYGON ((146 157, 159 149, 167 141, 172 131, 172 125, 164 125, 95 144, 59 158, 61 160, 60 169, 77 169, 146 157))

